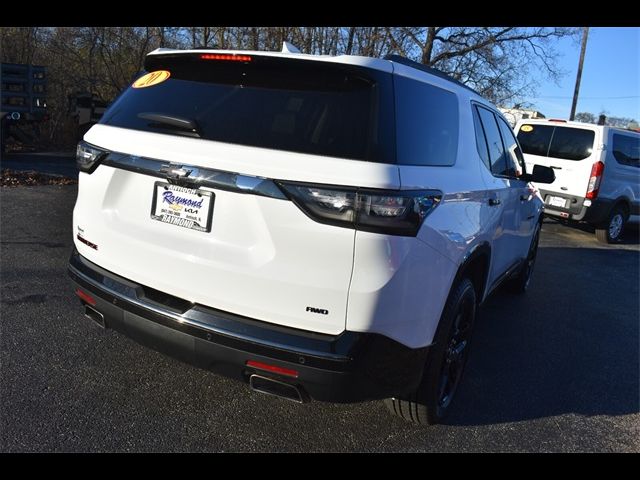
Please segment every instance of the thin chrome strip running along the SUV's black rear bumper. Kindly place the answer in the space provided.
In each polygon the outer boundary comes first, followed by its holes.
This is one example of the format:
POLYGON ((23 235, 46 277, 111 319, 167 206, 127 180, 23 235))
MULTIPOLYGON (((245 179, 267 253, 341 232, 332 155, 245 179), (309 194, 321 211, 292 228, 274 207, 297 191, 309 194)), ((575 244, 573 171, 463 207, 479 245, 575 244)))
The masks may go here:
MULTIPOLYGON (((328 352, 317 352, 317 351, 314 351, 314 350, 307 350, 305 348, 296 348, 295 350, 292 350, 290 345, 285 345, 285 344, 281 344, 281 343, 277 343, 277 342, 271 342, 271 341, 263 340, 263 339, 257 339, 257 338, 250 337, 250 336, 247 336, 247 335, 242 335, 242 334, 239 334, 239 333, 236 333, 236 332, 234 332, 233 334, 230 334, 230 332, 228 332, 226 330, 222 330, 222 329, 219 329, 219 328, 212 327, 211 325, 206 324, 204 322, 199 322, 197 320, 186 318, 183 315, 175 314, 175 313, 173 313, 173 312, 171 312, 169 310, 163 310, 163 309, 155 307, 153 305, 149 305, 148 303, 140 301, 140 299, 138 299, 138 298, 125 296, 121 292, 117 292, 116 290, 113 290, 112 288, 108 287, 104 283, 97 282, 95 279, 93 279, 93 278, 89 277, 88 275, 84 274, 83 272, 78 270, 73 265, 68 265, 68 268, 73 272, 74 275, 77 275, 82 280, 84 280, 85 282, 93 285, 94 287, 107 292, 109 295, 112 295, 113 297, 116 297, 119 300, 122 300, 123 302, 132 303, 132 304, 136 305, 139 308, 143 308, 143 309, 149 310, 150 312, 153 312, 155 314, 162 315, 163 317, 170 318, 171 320, 174 320, 174 321, 176 321, 178 323, 184 323, 184 324, 187 324, 187 325, 191 325, 192 327, 197 327, 197 328, 200 328, 200 329, 208 331, 208 332, 216 333, 218 335, 224 335, 224 336, 229 337, 229 338, 236 338, 236 339, 244 340, 246 342, 251 342, 251 343, 255 343, 255 344, 259 344, 259 345, 265 345, 267 347, 277 348, 279 350, 284 350, 284 351, 287 351, 287 352, 301 353, 301 354, 310 355, 310 356, 314 356, 314 357, 320 356, 322 358, 331 359, 331 360, 340 360, 340 361, 348 360, 348 358, 346 358, 343 355, 338 355, 338 354, 333 354, 333 353, 328 353, 328 352)), ((189 311, 190 310, 185 312, 185 314, 188 313, 189 311)))

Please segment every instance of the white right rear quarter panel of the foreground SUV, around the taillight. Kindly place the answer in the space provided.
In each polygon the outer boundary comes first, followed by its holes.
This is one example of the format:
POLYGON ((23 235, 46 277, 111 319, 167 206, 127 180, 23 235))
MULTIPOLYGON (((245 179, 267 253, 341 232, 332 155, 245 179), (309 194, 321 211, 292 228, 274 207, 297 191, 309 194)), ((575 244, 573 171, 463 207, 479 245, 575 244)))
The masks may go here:
POLYGON ((402 189, 443 192, 417 237, 356 234, 349 330, 375 331, 412 348, 431 344, 458 268, 477 245, 492 241, 495 209, 488 206, 464 97, 459 109, 455 165, 398 167, 402 189))

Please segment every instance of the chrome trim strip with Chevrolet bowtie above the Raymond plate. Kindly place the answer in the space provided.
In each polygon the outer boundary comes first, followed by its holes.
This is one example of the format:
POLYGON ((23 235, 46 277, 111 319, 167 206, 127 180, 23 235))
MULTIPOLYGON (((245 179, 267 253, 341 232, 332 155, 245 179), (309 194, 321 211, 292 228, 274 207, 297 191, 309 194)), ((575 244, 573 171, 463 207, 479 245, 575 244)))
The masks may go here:
POLYGON ((109 153, 101 164, 142 175, 164 178, 178 184, 210 187, 230 192, 287 200, 285 194, 269 178, 171 163, 117 152, 109 153))

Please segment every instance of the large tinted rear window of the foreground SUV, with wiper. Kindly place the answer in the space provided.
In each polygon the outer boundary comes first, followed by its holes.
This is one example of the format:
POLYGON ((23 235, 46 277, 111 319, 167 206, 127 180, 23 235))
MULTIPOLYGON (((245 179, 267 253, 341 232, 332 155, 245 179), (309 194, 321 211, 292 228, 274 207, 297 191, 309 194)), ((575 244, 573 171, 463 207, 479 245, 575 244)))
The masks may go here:
POLYGON ((361 67, 273 57, 204 60, 201 54, 147 57, 167 80, 129 88, 100 123, 354 160, 395 163, 390 74, 361 67), (144 117, 144 118, 143 118, 144 117), (150 120, 151 118, 151 120, 150 120))

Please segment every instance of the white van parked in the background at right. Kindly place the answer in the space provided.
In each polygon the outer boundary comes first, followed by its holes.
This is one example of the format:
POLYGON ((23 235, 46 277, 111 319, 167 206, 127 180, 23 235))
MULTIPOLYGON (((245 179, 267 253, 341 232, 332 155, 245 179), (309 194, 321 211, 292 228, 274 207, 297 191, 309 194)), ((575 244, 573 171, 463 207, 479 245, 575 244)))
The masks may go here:
POLYGON ((555 171, 555 182, 538 186, 545 213, 593 225, 601 242, 619 241, 640 214, 640 133, 553 119, 520 120, 515 132, 528 171, 555 171))

